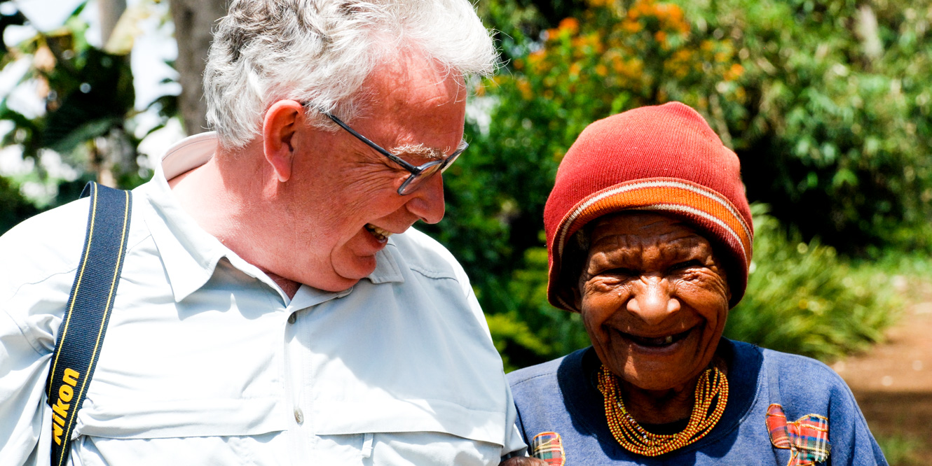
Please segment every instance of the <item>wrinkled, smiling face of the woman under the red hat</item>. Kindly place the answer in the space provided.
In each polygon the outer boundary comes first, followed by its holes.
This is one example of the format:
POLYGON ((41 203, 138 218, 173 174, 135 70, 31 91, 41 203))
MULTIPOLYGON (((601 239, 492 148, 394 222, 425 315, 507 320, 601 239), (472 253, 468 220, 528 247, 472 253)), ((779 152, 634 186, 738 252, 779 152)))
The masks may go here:
POLYGON ((691 383, 728 316, 712 245, 679 220, 644 212, 596 220, 590 245, 576 307, 602 364, 642 390, 691 383))

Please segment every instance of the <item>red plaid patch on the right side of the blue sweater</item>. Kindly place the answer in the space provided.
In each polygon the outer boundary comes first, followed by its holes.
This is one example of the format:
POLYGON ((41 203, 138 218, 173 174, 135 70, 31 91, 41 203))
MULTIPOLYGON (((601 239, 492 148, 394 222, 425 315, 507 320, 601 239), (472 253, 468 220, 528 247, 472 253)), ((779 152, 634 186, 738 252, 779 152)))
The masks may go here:
POLYGON ((767 432, 777 448, 788 448, 787 466, 813 466, 829 459, 829 419, 807 414, 795 422, 787 422, 783 406, 767 407, 767 432))

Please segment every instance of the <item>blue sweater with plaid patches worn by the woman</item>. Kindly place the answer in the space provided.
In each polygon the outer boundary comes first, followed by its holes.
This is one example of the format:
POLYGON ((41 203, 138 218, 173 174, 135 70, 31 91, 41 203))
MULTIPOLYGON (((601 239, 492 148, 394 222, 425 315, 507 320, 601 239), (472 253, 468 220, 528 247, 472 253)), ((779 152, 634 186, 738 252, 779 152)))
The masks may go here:
MULTIPOLYGON (((785 466, 790 451, 771 444, 764 424, 767 406, 776 403, 783 406, 789 421, 808 414, 829 418, 831 452, 828 461, 819 464, 886 464, 854 396, 829 366, 725 339, 720 342, 720 353, 729 367, 728 404, 715 428, 692 445, 653 458, 619 446, 609 431, 602 394, 594 383, 598 359, 591 347, 508 375, 518 408, 518 429, 528 445, 538 433, 559 433, 568 466, 785 466)), ((685 422, 645 427, 655 433, 674 433, 685 422)))

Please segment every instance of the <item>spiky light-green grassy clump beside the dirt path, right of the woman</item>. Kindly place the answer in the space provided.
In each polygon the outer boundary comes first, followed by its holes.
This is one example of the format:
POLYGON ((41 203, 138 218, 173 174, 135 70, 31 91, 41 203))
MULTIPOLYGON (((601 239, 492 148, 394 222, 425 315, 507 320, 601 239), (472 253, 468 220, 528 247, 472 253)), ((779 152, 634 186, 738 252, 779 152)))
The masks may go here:
POLYGON ((869 264, 854 269, 833 247, 784 232, 761 205, 752 213, 747 294, 729 314, 725 336, 823 360, 883 339, 902 307, 891 275, 869 264))

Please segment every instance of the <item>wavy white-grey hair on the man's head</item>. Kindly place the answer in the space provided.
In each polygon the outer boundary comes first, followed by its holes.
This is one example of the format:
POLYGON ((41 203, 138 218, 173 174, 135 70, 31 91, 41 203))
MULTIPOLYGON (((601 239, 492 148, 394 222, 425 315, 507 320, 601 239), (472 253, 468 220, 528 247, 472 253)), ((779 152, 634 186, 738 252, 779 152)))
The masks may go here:
POLYGON ((204 71, 208 124, 238 148, 277 100, 350 120, 369 73, 411 50, 464 76, 492 73, 498 60, 468 0, 233 0, 204 71))

